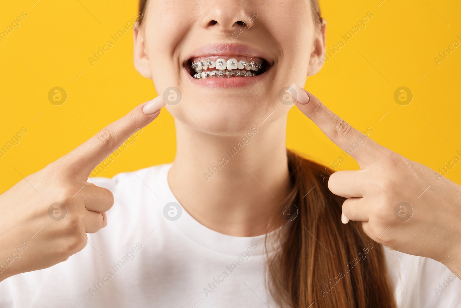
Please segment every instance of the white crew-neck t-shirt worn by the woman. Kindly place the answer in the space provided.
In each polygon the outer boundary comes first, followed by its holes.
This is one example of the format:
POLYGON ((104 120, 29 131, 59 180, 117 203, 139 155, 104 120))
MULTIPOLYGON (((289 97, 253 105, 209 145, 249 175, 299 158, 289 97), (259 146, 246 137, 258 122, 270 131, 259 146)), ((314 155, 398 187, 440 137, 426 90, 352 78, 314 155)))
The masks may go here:
MULTIPOLYGON (((227 236, 197 222, 168 186, 170 166, 90 179, 114 194, 107 226, 67 261, 0 282, 0 307, 274 307, 264 236, 227 236)), ((448 268, 384 249, 399 307, 461 307, 461 281, 448 268)))

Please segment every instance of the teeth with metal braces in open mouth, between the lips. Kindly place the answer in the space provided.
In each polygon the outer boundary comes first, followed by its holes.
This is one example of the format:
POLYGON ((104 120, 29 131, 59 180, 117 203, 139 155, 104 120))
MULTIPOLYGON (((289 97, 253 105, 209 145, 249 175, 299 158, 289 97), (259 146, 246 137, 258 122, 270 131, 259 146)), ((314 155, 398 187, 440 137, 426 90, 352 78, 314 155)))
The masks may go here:
POLYGON ((192 58, 186 66, 195 79, 254 77, 270 68, 262 58, 244 56, 192 58))

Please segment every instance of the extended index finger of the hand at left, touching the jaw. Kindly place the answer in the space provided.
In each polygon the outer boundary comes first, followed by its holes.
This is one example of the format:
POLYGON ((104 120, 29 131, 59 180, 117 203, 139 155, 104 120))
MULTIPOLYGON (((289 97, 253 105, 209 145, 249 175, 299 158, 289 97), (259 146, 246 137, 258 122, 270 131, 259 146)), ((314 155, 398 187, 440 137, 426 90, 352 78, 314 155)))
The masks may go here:
POLYGON ((161 96, 137 106, 130 113, 101 129, 95 136, 61 157, 61 162, 69 166, 74 175, 81 175, 87 179, 91 171, 118 149, 133 133, 154 121, 164 106, 165 102, 161 96))

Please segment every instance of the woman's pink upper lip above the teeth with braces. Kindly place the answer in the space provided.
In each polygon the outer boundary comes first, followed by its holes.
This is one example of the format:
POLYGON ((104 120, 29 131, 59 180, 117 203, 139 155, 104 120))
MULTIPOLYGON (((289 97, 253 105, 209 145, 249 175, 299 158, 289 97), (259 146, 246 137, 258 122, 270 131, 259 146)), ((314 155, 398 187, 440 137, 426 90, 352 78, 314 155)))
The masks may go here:
POLYGON ((219 43, 209 44, 191 52, 185 62, 192 58, 205 58, 210 56, 242 56, 248 58, 262 58, 271 66, 273 61, 265 52, 242 43, 219 43))

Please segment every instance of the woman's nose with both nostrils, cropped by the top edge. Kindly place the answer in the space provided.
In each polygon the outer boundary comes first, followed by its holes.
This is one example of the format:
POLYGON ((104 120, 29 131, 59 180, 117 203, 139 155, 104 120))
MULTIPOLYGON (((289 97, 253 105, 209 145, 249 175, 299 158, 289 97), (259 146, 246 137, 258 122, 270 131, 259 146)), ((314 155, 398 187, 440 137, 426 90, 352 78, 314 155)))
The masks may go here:
MULTIPOLYGON (((248 7, 248 1, 245 2, 248 7)), ((239 27, 247 27, 251 20, 251 14, 244 9, 242 1, 239 0, 207 0, 202 10, 205 14, 201 26, 206 29, 229 33, 239 27)))

